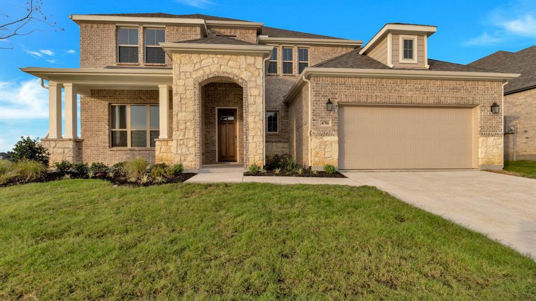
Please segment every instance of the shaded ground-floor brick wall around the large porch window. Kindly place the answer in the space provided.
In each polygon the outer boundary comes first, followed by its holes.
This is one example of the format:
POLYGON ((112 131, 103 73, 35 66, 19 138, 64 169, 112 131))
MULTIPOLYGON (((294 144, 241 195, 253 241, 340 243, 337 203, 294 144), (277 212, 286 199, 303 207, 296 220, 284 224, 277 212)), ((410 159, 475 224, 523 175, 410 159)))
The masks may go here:
MULTIPOLYGON (((111 165, 136 157, 155 162, 155 148, 111 148, 110 104, 158 104, 158 90, 92 90, 91 96, 80 97, 80 131, 84 139, 84 162, 103 162, 111 165)), ((170 91, 170 97, 172 92, 170 91)), ((170 111, 173 103, 169 102, 170 111)), ((172 116, 169 116, 168 132, 172 132, 172 116)))

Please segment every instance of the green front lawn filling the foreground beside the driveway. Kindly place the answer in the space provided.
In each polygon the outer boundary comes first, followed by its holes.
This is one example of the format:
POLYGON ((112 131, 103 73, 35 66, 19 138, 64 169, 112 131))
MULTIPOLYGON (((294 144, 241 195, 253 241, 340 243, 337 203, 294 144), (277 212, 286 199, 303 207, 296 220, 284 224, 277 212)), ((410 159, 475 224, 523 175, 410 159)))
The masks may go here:
POLYGON ((0 188, 0 299, 536 298, 536 263, 374 187, 0 188))

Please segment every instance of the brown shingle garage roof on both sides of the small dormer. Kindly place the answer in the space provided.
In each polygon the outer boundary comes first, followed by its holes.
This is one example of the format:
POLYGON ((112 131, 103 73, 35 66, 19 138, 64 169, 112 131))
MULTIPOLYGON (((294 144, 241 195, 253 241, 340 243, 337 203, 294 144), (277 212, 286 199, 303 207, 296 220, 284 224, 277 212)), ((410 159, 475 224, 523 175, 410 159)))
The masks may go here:
MULTIPOLYGON (((389 66, 376 61, 374 58, 371 58, 366 55, 360 55, 359 50, 361 50, 361 48, 354 49, 350 52, 347 52, 346 54, 328 59, 327 61, 314 65, 313 67, 384 69, 384 70, 392 69, 389 66)), ((466 65, 456 64, 456 63, 437 61, 436 59, 431 59, 431 58, 428 59, 428 65, 430 65, 430 68, 427 70, 432 70, 432 71, 496 72, 492 70, 480 69, 477 67, 466 66, 466 65)), ((414 70, 422 70, 422 69, 414 69, 414 70)))

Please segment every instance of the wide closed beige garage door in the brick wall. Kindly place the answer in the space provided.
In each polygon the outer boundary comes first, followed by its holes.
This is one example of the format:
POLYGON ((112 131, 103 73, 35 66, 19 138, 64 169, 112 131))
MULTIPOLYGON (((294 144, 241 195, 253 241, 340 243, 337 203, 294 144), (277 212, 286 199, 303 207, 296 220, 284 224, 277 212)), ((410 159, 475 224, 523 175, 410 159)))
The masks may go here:
POLYGON ((473 110, 339 107, 340 169, 473 166, 473 110))

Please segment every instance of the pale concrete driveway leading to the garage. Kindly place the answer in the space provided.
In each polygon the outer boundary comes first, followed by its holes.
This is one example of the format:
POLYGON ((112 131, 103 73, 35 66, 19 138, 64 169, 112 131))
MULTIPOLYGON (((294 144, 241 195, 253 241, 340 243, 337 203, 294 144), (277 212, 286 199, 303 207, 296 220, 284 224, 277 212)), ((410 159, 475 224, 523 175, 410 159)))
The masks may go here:
POLYGON ((536 259, 536 180, 487 171, 343 172, 536 259))

